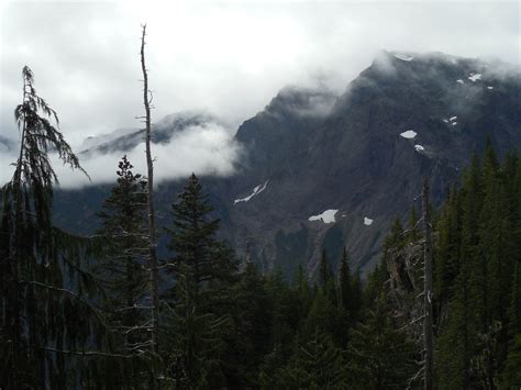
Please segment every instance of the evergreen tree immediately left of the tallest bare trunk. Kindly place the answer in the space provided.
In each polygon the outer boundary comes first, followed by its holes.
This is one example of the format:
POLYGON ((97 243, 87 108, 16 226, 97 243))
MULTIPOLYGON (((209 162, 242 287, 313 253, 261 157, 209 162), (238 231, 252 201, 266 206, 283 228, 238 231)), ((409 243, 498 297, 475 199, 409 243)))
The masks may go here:
MULTIPOLYGON (((118 181, 98 213, 102 250, 96 272, 104 289, 103 309, 110 326, 123 335, 123 354, 140 356, 149 349, 151 299, 146 271, 146 181, 132 171, 123 156, 117 171, 118 181)), ((134 387, 146 383, 144 361, 128 365, 125 378, 134 387), (143 378, 144 377, 144 378, 143 378)))

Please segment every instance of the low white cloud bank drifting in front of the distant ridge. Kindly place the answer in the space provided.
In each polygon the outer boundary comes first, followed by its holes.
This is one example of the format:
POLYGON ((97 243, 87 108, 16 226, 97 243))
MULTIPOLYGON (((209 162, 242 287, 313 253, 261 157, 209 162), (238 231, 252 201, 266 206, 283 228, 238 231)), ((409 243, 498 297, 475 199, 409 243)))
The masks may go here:
MULTIPOLYGON (((204 124, 174 135, 168 143, 153 144, 155 183, 184 178, 192 172, 200 176, 232 175, 242 152, 230 134, 230 131, 221 125, 204 124)), ((52 155, 59 187, 70 189, 115 182, 118 161, 123 154, 125 153, 92 154, 88 158, 80 159, 81 166, 91 177, 91 182, 80 171, 71 171, 58 160, 57 156, 52 155)), ((134 171, 146 176, 144 143, 128 151, 126 156, 134 166, 134 171)), ((11 179, 14 168, 9 165, 14 159, 13 153, 0 155, 2 183, 11 179)))

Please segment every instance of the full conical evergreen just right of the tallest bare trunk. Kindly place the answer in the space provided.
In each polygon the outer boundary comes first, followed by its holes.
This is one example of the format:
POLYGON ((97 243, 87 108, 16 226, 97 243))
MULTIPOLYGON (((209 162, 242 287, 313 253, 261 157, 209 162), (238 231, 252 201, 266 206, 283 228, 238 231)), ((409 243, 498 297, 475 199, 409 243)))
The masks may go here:
POLYGON ((232 301, 236 264, 215 238, 219 220, 211 219, 213 208, 196 175, 171 209, 174 223, 167 232, 174 257, 166 266, 175 277, 175 287, 166 297, 173 310, 165 337, 173 349, 165 350, 165 360, 177 386, 224 386, 221 355, 232 323, 226 305, 232 301))

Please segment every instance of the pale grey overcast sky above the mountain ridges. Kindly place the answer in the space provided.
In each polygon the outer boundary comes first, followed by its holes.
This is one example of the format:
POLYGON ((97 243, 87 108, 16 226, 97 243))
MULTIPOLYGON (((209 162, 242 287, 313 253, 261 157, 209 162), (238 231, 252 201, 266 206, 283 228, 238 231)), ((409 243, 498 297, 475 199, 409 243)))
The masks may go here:
POLYGON ((12 112, 29 65, 73 145, 140 125, 143 22, 154 119, 206 109, 231 134, 286 85, 341 92, 380 49, 521 60, 518 1, 0 4, 1 135, 18 134, 12 112))

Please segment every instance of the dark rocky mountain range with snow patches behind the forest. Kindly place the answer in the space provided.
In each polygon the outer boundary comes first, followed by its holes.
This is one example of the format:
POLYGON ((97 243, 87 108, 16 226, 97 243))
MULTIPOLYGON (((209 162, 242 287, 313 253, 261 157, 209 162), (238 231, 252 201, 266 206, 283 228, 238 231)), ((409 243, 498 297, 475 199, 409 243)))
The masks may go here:
MULTIPOLYGON (((440 203, 487 136, 500 156, 520 149, 520 98, 519 70, 505 64, 383 52, 340 97, 282 89, 239 127, 235 141, 244 158, 236 174, 202 182, 222 219, 223 236, 240 255, 247 248, 265 270, 280 267, 291 277, 301 263, 313 272, 322 247, 335 267, 344 245, 367 269, 391 220, 420 207, 424 177, 440 203)), ((164 127, 158 123, 156 143, 182 127, 185 122, 171 118, 162 121, 164 127)), ((96 147, 117 149, 140 137, 137 131, 96 147)), ((159 186, 160 224, 168 223, 168 207, 181 185, 159 186)), ((59 193, 57 221, 91 226, 85 213, 65 216, 59 210, 71 211, 81 199, 92 216, 107 192, 59 193)))

